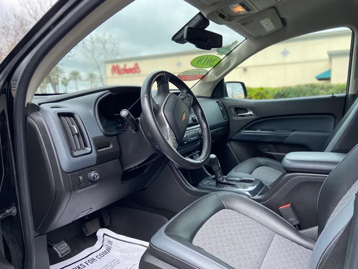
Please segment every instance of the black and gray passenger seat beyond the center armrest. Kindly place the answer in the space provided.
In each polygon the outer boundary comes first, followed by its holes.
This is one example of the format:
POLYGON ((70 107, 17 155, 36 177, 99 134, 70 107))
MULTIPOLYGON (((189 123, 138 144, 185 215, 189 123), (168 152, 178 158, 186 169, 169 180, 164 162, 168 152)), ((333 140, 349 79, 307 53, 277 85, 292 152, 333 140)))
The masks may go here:
MULTIPOLYGON (((358 98, 342 118, 332 134, 328 137, 324 146, 324 152, 348 153, 358 144, 358 98)), ((269 158, 257 157, 248 159, 234 169, 228 176, 232 177, 255 177, 261 179, 264 184, 274 182, 285 170, 279 161, 269 158)))

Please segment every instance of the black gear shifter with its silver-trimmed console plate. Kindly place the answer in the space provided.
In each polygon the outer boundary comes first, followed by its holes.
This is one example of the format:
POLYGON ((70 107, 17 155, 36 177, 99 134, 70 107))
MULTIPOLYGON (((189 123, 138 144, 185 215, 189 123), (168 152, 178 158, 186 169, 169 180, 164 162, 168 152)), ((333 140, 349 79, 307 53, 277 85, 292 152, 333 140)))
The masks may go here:
POLYGON ((231 191, 249 197, 264 193, 265 190, 267 190, 267 187, 260 179, 224 176, 221 171, 219 160, 214 154, 210 154, 206 165, 212 168, 214 175, 208 176, 200 181, 196 186, 199 189, 213 192, 231 191))

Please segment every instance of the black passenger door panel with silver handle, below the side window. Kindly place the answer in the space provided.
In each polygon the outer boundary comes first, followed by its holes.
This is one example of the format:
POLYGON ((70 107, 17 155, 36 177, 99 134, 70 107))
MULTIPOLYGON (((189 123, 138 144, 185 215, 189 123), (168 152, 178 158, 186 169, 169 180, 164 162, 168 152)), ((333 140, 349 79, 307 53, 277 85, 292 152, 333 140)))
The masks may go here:
POLYGON ((322 151, 343 117, 345 98, 345 94, 265 101, 220 98, 229 115, 230 151, 239 162, 255 156, 281 161, 291 151, 322 151))

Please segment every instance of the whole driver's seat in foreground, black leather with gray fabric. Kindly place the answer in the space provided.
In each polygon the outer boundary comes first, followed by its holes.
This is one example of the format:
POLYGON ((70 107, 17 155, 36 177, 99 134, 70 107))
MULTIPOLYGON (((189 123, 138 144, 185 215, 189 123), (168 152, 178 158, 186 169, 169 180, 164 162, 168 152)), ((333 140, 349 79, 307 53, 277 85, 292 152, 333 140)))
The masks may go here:
POLYGON ((356 146, 322 185, 317 242, 250 198, 217 192, 162 227, 139 268, 343 269, 358 191, 357 159, 356 146))

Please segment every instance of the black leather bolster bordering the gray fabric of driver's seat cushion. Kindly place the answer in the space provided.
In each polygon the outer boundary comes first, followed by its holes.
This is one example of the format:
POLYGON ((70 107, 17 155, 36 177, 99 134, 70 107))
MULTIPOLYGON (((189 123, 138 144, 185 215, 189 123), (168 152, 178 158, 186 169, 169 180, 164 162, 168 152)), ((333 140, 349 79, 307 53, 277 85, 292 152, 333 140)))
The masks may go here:
POLYGON ((151 239, 149 253, 176 267, 231 268, 204 250, 192 245, 201 226, 215 213, 231 209, 244 214, 274 233, 313 250, 315 242, 302 236, 288 222, 259 203, 231 192, 208 194, 198 199, 170 220, 151 239), (185 257, 185 261, 183 261, 185 257))

